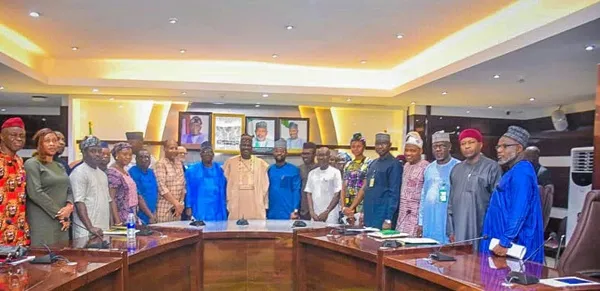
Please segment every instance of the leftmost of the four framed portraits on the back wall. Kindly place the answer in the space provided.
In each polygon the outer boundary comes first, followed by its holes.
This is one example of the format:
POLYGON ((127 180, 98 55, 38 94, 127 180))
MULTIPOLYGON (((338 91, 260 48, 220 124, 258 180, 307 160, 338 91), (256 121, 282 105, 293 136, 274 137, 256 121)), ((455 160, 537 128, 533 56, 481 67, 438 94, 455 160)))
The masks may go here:
POLYGON ((212 118, 207 112, 179 112, 179 144, 190 150, 212 138, 212 118))

